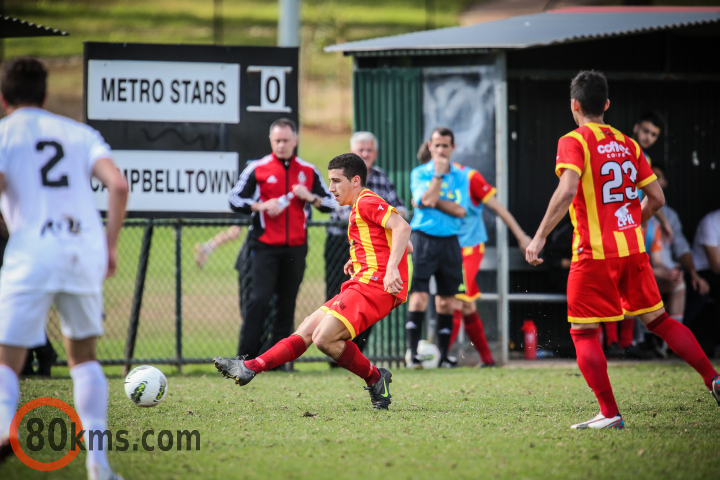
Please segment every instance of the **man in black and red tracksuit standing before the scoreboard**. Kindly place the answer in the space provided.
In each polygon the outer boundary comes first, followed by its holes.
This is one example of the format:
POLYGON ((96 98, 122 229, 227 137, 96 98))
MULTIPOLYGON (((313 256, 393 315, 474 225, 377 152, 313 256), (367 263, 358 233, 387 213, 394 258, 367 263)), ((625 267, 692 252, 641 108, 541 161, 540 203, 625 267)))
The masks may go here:
MULTIPOLYGON (((270 299, 277 294, 272 343, 293 331, 295 300, 305 273, 305 205, 330 212, 337 202, 320 172, 294 155, 297 128, 281 118, 270 126, 272 154, 251 162, 230 193, 230 208, 253 214, 250 256, 252 292, 243 309, 239 354, 255 358, 262 347, 270 299)), ((242 279, 241 279, 242 280, 242 279)))

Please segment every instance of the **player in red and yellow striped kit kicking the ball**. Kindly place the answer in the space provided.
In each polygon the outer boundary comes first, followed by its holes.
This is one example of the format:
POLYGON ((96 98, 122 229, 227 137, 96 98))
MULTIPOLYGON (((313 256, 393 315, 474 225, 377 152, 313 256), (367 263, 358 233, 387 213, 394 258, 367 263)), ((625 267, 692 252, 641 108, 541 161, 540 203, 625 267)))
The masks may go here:
POLYGON ((238 385, 256 374, 300 357, 312 343, 367 383, 373 408, 387 410, 392 374, 370 363, 351 340, 404 303, 408 291, 407 254, 412 252, 410 225, 385 200, 365 188, 367 167, 354 153, 328 165, 330 192, 340 205, 352 205, 348 239, 352 275, 338 295, 307 317, 297 331, 253 359, 215 357, 216 368, 238 385))

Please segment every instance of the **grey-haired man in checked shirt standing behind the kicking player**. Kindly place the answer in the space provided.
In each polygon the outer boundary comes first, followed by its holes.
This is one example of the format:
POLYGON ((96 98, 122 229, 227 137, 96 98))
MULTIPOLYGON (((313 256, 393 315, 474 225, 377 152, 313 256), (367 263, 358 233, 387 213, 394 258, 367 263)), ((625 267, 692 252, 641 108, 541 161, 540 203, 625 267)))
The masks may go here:
MULTIPOLYGON (((379 167, 375 166, 378 154, 378 141, 370 132, 355 132, 350 137, 350 152, 359 156, 367 166, 366 188, 395 207, 398 214, 405 218, 407 210, 402 199, 398 196, 390 179, 379 167)), ((350 218, 351 205, 338 206, 330 213, 330 220, 344 222, 343 227, 331 226, 327 229, 325 239, 325 293, 330 300, 340 293, 340 286, 350 279, 343 272, 343 265, 350 259, 350 243, 347 237, 347 221, 350 218)), ((367 340, 370 338, 373 326, 353 339, 360 351, 364 351, 367 340)))

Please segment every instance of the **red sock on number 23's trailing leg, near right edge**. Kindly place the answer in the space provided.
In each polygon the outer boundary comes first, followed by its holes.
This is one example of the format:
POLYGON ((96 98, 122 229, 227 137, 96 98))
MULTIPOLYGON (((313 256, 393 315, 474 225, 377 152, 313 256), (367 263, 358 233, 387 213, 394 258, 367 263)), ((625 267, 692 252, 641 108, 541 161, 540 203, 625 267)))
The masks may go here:
POLYGON ((700 348, 700 344, 697 343, 695 335, 689 328, 670 318, 667 312, 650 322, 647 327, 648 330, 665 340, 673 352, 693 367, 703 377, 705 386, 710 388, 712 379, 718 373, 710 364, 710 360, 700 348))

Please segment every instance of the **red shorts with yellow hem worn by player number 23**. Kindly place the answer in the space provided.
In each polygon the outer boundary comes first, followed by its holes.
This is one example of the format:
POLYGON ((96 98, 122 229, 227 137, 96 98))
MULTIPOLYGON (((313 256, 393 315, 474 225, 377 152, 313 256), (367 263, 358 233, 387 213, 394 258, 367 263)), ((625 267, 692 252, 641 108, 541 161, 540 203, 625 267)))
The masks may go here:
POLYGON ((615 322, 663 306, 646 253, 573 262, 568 277, 568 321, 615 322))

